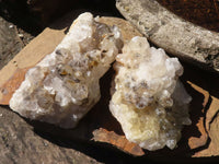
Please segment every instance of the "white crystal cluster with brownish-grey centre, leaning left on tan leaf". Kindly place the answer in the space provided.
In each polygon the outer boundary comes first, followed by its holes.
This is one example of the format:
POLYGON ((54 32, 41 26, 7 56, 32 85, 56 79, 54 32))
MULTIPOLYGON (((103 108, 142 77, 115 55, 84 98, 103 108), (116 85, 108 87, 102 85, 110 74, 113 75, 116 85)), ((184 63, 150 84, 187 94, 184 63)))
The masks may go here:
POLYGON ((30 119, 73 128, 100 99, 99 80, 122 46, 116 26, 91 13, 79 15, 56 49, 27 71, 10 107, 30 119))

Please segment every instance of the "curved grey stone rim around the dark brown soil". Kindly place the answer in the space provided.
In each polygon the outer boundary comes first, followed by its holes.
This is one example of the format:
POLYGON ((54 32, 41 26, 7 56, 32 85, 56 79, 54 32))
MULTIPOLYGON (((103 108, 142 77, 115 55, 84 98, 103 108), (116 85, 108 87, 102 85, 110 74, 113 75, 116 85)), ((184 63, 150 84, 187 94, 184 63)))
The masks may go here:
POLYGON ((165 51, 200 68, 219 71, 219 34, 186 22, 155 0, 117 0, 119 12, 165 51))

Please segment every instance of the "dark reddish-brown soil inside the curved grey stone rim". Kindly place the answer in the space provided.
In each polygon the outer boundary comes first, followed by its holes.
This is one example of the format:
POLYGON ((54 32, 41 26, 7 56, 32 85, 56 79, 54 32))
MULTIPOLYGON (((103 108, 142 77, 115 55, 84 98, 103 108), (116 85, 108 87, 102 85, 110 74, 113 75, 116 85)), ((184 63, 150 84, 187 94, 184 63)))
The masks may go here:
POLYGON ((218 0, 158 0, 158 2, 185 20, 219 32, 218 0))

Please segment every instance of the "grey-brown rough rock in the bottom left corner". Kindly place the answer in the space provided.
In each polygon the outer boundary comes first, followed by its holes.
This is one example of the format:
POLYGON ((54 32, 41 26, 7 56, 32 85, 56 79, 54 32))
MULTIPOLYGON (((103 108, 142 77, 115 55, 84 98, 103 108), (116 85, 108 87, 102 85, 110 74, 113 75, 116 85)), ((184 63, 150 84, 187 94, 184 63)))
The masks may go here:
POLYGON ((80 151, 66 148, 66 145, 59 147, 51 140, 36 134, 31 125, 9 108, 0 107, 0 124, 1 164, 101 163, 80 151))

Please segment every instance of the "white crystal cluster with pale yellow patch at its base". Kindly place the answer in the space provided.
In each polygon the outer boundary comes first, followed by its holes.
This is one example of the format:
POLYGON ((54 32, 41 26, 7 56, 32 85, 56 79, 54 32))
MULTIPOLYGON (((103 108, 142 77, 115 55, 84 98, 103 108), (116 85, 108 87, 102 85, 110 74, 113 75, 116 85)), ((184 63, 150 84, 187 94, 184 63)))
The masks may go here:
POLYGON ((126 138, 150 151, 174 149, 183 125, 191 125, 192 101, 178 80, 183 68, 177 58, 136 36, 116 61, 110 109, 126 138))

